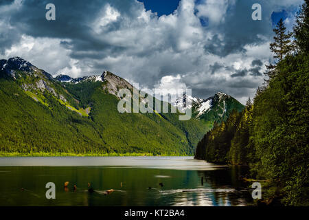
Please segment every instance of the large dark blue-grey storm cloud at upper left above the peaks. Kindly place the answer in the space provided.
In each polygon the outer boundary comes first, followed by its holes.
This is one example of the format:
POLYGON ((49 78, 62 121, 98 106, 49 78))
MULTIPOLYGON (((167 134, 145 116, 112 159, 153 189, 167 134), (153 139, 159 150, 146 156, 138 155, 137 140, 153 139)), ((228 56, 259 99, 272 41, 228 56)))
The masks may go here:
MULTIPOLYGON (((67 42, 66 44, 73 50, 72 56, 77 58, 89 56, 89 58, 93 58, 92 54, 85 53, 82 56, 82 54, 74 53, 82 51, 94 52, 97 58, 102 58, 107 53, 122 52, 122 47, 111 45, 104 41, 104 39, 98 38, 89 27, 89 23, 100 16, 99 13, 106 3, 110 3, 113 7, 117 8, 123 16, 134 16, 135 12, 132 10, 134 1, 25 0, 19 10, 13 10, 10 13, 9 22, 14 27, 14 35, 16 36, 27 34, 34 37, 70 39, 70 43, 67 42), (45 12, 47 12, 45 5, 47 3, 54 3, 56 5, 56 21, 47 21, 45 19, 45 12), (98 51, 101 53, 97 53, 98 51), (102 51, 106 51, 106 53, 102 51)), ((117 25, 114 28, 117 28, 117 25)), ((14 41, 7 41, 5 43, 5 48, 8 48, 14 41)), ((3 48, 1 49, 3 50, 3 48)))

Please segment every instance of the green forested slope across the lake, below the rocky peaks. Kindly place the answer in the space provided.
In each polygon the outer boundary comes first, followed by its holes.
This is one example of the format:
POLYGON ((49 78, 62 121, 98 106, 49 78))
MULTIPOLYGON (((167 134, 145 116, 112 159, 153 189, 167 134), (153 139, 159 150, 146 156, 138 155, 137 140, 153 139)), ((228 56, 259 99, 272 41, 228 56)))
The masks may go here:
POLYGON ((193 153, 193 144, 205 132, 197 121, 186 126, 172 124, 172 116, 165 120, 156 114, 120 114, 119 100, 100 85, 89 96, 89 117, 69 110, 46 91, 40 96, 44 102, 36 102, 10 78, 0 79, 2 152, 185 155, 193 153))

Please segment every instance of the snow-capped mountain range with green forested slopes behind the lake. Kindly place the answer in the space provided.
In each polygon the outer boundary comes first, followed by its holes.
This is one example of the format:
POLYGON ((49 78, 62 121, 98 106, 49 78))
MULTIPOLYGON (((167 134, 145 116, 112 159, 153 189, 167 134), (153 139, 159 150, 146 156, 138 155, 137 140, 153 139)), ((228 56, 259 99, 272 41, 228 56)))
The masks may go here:
POLYGON ((132 91, 133 85, 108 71, 54 78, 22 58, 0 60, 0 152, 193 155, 215 121, 243 109, 236 99, 218 92, 207 99, 184 95, 169 104, 192 108, 187 121, 179 121, 179 111, 119 113, 119 89, 132 91))

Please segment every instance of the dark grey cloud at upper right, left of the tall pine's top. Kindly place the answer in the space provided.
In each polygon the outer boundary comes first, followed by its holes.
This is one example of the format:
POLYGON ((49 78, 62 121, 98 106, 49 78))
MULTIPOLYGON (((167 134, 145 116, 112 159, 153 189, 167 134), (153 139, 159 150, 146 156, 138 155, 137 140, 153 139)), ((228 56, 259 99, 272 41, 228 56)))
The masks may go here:
POLYGON ((235 5, 227 7, 224 23, 221 23, 218 27, 206 27, 209 30, 216 29, 218 33, 222 34, 223 38, 219 39, 218 34, 215 34, 211 42, 205 45, 205 50, 218 56, 227 56, 232 53, 245 52, 244 45, 263 43, 265 39, 272 35, 270 14, 271 9, 266 7, 266 1, 236 1, 235 5), (253 3, 262 5, 262 21, 251 19, 253 3), (266 38, 261 39, 259 35, 266 38))

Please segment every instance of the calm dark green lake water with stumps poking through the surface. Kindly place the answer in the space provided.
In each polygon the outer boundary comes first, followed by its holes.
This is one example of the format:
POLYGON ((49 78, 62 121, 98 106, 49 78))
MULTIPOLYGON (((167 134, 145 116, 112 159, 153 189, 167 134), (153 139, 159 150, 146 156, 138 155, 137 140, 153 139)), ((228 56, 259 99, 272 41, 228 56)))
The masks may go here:
POLYGON ((0 157, 0 206, 250 206, 246 172, 193 157, 0 157))

